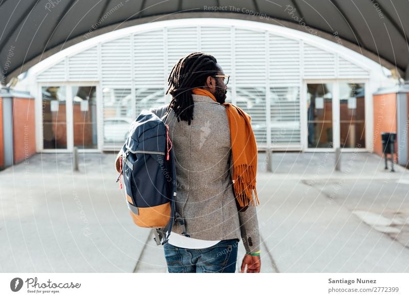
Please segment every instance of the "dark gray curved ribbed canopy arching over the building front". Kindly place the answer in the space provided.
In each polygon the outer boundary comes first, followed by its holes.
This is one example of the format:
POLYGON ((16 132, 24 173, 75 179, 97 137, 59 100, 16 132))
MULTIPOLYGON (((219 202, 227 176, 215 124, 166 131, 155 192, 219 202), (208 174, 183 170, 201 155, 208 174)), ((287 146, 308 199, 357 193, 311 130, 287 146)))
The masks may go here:
POLYGON ((408 79, 408 12, 403 0, 0 0, 0 79, 5 84, 87 33, 186 17, 248 19, 318 33, 397 67, 408 79))

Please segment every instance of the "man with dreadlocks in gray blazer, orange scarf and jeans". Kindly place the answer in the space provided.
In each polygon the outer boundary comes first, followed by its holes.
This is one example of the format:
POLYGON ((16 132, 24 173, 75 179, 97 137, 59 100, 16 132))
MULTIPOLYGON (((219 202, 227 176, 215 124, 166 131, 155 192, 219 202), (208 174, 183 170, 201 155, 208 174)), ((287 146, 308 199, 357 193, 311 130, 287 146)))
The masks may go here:
POLYGON ((216 58, 194 52, 169 75, 169 106, 151 109, 166 124, 177 176, 175 221, 164 244, 169 272, 235 272, 237 248, 246 254, 241 272, 260 272, 255 206, 257 145, 251 119, 225 103, 229 76, 216 58))

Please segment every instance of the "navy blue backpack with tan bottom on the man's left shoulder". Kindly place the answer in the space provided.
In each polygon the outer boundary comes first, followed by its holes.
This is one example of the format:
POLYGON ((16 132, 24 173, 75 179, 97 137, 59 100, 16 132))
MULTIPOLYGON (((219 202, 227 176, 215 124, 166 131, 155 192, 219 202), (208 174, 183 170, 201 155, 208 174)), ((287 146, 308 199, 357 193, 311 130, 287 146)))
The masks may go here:
POLYGON ((175 211, 176 169, 169 127, 165 124, 168 115, 159 118, 151 111, 142 110, 131 124, 116 160, 120 173, 117 182, 120 181, 122 189, 123 176, 133 222, 152 228, 157 245, 162 239, 162 245, 168 241, 175 220, 184 227, 184 220, 175 211))

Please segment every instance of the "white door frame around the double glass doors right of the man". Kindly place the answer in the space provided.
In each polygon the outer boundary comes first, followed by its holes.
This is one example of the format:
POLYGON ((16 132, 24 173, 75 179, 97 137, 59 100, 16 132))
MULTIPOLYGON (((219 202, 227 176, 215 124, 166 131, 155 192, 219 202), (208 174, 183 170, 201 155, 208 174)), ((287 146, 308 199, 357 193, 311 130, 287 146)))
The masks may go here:
POLYGON ((339 82, 365 84, 365 148, 341 148, 341 152, 369 152, 371 133, 368 129, 371 117, 372 97, 370 96, 370 85, 368 79, 305 79, 302 82, 300 94, 300 121, 301 121, 301 146, 303 152, 335 152, 340 148, 340 104, 339 104, 339 82), (307 84, 332 84, 332 148, 308 148, 308 119, 307 119, 307 84))

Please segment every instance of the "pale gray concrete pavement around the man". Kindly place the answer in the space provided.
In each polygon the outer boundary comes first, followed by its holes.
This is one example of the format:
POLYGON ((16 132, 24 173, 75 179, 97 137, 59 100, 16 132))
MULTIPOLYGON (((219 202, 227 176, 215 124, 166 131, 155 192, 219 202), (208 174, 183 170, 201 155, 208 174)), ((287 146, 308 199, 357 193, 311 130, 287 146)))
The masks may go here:
MULTIPOLYGON (((409 272, 409 170, 371 153, 259 154, 262 272, 409 272)), ((115 154, 36 154, 0 172, 2 272, 166 272, 135 226, 115 154)), ((237 267, 244 255, 239 246, 237 267)))

